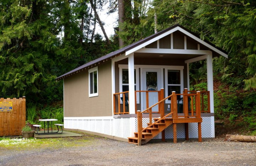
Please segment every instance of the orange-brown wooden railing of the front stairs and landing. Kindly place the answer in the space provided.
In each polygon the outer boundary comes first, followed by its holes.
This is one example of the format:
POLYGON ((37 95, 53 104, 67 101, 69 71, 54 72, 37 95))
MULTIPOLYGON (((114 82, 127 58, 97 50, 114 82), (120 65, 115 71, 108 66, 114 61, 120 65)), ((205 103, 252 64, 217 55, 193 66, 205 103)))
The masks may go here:
MULTIPOLYGON (((142 138, 142 132, 146 131, 148 128, 152 127, 154 124, 160 122, 166 117, 169 117, 172 115, 172 119, 178 119, 178 118, 201 118, 201 112, 200 112, 200 91, 197 91, 196 94, 176 94, 175 91, 172 92, 172 94, 166 98, 163 98, 164 94, 164 89, 161 89, 161 98, 159 102, 156 104, 150 106, 149 108, 140 111, 137 111, 137 118, 138 118, 138 145, 141 145, 141 138, 142 138), (183 95, 183 111, 184 111, 184 116, 178 116, 178 110, 177 110, 177 95, 183 95), (194 109, 192 109, 192 114, 189 115, 188 113, 188 96, 195 96, 195 112, 194 109), (167 115, 164 116, 164 101, 167 100, 168 98, 171 98, 171 112, 168 113, 167 115), (158 119, 156 122, 152 123, 152 108, 158 105, 160 107, 160 119, 158 119), (143 113, 149 113, 149 125, 146 128, 142 128, 142 114, 143 113), (194 115, 195 113, 195 115, 194 115)), ((193 105, 193 104, 192 104, 193 105)), ((193 105, 194 108, 194 105, 193 105)))

